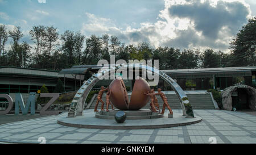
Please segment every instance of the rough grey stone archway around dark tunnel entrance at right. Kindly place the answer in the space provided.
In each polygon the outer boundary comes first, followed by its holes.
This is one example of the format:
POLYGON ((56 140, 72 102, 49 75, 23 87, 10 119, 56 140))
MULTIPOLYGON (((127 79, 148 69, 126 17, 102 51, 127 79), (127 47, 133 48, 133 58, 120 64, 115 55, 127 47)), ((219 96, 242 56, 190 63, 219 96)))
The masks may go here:
POLYGON ((232 106, 232 93, 237 89, 243 88, 246 90, 246 93, 249 95, 249 107, 251 110, 256 110, 256 93, 254 87, 247 86, 247 85, 237 85, 227 87, 221 92, 222 97, 222 106, 225 110, 231 111, 232 106))

